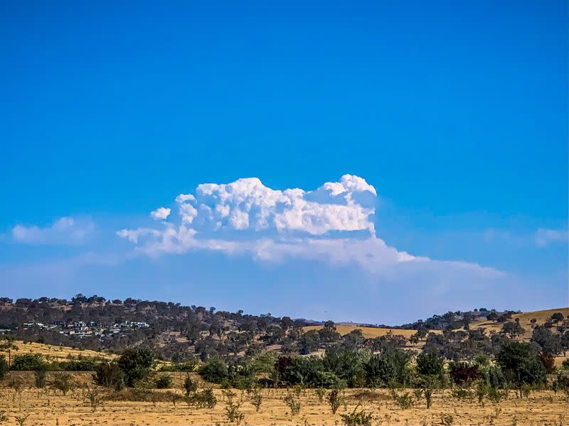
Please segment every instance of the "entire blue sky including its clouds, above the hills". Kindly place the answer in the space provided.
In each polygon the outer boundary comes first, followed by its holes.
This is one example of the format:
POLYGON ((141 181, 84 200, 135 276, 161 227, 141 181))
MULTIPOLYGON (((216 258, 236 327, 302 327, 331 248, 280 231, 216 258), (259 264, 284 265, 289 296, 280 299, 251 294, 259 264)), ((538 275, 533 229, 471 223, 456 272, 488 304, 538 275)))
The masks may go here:
POLYGON ((2 293, 368 322, 568 305, 567 9, 4 2, 2 293))

